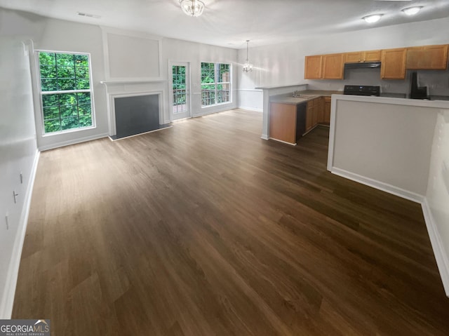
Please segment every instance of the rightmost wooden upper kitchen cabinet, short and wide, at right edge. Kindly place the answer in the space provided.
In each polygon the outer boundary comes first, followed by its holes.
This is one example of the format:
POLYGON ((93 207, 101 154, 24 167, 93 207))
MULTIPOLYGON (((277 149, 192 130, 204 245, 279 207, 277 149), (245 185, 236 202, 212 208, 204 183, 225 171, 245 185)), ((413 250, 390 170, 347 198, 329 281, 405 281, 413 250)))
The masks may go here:
POLYGON ((448 68, 448 45, 407 48, 407 69, 445 70, 448 68))

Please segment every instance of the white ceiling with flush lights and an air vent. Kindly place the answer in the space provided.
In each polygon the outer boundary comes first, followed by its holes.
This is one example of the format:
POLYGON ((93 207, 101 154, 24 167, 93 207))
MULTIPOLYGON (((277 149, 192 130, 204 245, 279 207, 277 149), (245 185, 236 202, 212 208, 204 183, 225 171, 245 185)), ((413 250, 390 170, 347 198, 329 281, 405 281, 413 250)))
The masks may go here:
POLYGON ((293 41, 405 22, 446 18, 449 0, 203 0, 199 18, 182 13, 179 0, 0 0, 4 8, 229 48, 293 41), (424 6, 413 17, 401 12, 424 6), (77 12, 98 15, 86 18, 77 12), (383 13, 368 25, 363 16, 383 13))

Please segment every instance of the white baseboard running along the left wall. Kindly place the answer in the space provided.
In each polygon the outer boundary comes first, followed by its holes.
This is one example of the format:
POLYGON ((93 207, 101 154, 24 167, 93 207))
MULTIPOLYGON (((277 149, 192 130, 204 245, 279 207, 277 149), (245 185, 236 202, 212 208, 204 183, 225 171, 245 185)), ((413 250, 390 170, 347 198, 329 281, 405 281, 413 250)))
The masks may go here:
POLYGON ((29 176, 29 184, 23 202, 22 212, 20 213, 20 222, 17 234, 15 235, 13 254, 9 262, 8 273, 4 288, 4 295, 0 303, 0 318, 10 319, 13 313, 13 304, 15 296, 15 286, 19 275, 20 258, 22 257, 23 242, 25 241, 25 233, 27 231, 29 207, 31 205, 31 196, 33 193, 34 180, 36 178, 37 164, 39 163, 40 152, 36 150, 34 162, 29 176))

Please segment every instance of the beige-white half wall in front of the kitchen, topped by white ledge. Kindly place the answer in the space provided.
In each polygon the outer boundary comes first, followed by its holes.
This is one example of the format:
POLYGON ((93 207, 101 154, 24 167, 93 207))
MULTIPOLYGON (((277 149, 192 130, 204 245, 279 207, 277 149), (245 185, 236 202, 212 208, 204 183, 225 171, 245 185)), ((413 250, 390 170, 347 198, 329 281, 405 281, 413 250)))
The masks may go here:
POLYGON ((369 97, 336 95, 333 100, 331 171, 363 177, 378 189, 421 202, 438 109, 396 98, 372 102, 369 97))

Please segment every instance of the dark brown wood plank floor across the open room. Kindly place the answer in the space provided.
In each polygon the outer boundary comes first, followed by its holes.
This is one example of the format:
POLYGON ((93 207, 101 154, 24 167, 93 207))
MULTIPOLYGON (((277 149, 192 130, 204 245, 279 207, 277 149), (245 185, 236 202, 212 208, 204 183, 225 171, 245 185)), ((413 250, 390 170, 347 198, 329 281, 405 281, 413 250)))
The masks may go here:
POLYGON ((449 335, 417 203, 232 110, 41 153, 13 318, 52 335, 449 335))

